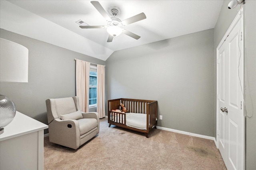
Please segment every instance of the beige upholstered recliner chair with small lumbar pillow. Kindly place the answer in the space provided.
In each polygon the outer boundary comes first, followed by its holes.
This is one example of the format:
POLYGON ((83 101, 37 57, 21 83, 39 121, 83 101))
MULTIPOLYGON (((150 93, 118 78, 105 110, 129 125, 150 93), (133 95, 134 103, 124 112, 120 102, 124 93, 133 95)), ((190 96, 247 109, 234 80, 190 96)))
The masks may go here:
POLYGON ((80 111, 78 98, 46 100, 50 142, 72 149, 92 139, 100 131, 97 112, 80 111))

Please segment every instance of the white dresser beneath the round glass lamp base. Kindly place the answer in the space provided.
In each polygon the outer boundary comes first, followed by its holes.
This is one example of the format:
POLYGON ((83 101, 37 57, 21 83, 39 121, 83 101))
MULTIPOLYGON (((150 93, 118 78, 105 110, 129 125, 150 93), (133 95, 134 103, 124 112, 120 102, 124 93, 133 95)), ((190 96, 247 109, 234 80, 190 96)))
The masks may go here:
POLYGON ((48 125, 18 111, 0 135, 0 170, 43 170, 48 125))

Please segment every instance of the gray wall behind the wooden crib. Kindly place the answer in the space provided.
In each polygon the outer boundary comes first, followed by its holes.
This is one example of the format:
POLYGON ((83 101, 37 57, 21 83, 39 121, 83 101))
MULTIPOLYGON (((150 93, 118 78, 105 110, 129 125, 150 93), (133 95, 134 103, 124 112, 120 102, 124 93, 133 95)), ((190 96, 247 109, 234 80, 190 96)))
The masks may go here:
POLYGON ((213 137, 214 29, 114 52, 106 92, 157 100, 158 126, 213 137))

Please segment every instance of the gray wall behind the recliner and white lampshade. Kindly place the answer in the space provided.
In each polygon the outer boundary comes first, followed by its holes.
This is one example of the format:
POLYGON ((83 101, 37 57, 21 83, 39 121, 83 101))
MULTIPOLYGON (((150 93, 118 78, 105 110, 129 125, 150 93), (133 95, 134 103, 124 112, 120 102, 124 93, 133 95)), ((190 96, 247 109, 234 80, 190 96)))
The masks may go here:
POLYGON ((4 29, 0 37, 28 48, 28 83, 1 82, 0 93, 14 101, 17 111, 45 124, 46 99, 76 95, 75 58, 105 65, 105 61, 4 29))

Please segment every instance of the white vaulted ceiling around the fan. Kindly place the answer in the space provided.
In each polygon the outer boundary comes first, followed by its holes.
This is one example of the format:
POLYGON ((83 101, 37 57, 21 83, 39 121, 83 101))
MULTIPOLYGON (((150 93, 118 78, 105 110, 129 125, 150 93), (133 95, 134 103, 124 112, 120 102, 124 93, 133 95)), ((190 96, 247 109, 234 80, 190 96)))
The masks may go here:
POLYGON ((223 0, 98 2, 109 16, 113 8, 117 9, 116 17, 120 20, 144 12, 145 20, 124 27, 141 38, 136 40, 121 34, 108 43, 106 29, 81 29, 78 20, 89 25, 107 25, 90 0, 1 0, 0 27, 105 61, 117 50, 214 28, 223 0))

